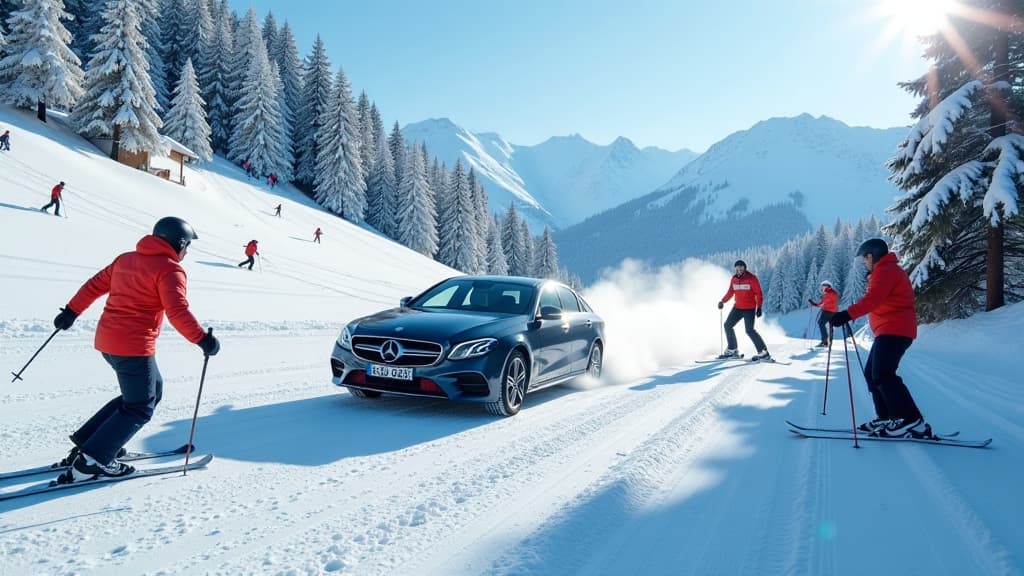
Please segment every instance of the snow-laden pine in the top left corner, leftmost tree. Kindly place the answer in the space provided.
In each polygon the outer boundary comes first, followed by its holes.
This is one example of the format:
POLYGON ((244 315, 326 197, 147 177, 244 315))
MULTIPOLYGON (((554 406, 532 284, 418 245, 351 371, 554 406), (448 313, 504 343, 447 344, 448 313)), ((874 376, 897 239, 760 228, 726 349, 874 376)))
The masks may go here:
POLYGON ((0 59, 3 100, 36 108, 46 121, 46 107, 72 107, 84 93, 82 61, 71 50, 62 0, 33 0, 7 18, 10 32, 0 59))

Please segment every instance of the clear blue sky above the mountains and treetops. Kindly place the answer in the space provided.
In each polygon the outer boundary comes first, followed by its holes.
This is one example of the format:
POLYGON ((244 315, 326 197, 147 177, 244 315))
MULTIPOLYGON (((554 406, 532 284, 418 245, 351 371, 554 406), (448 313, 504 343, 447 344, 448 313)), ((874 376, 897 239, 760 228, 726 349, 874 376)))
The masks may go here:
POLYGON ((702 152, 776 116, 910 123, 896 83, 926 70, 886 39, 902 0, 230 0, 317 33, 385 123, 449 117, 517 145, 580 133, 702 152))

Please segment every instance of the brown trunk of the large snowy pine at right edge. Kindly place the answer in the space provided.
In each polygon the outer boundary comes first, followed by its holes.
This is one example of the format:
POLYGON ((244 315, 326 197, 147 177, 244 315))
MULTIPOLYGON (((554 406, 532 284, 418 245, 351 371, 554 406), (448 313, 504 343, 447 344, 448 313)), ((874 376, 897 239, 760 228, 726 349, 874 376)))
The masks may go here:
MULTIPOLYGON (((1006 0, 1000 2, 1000 15, 1009 14, 1006 10, 1006 0)), ((1010 81, 1010 36, 1006 30, 1006 25, 996 25, 993 29, 995 35, 995 67, 992 70, 993 84, 1002 84, 1010 81)), ((992 138, 1005 136, 1007 134, 1007 121, 1010 118, 1009 102, 1004 96, 1002 89, 998 86, 989 88, 992 102, 992 114, 989 122, 988 134, 992 138)), ((985 257, 985 310, 993 311, 1005 303, 1004 299, 1004 262, 1002 244, 1004 231, 1002 222, 998 225, 989 225, 987 234, 987 254, 985 257)))

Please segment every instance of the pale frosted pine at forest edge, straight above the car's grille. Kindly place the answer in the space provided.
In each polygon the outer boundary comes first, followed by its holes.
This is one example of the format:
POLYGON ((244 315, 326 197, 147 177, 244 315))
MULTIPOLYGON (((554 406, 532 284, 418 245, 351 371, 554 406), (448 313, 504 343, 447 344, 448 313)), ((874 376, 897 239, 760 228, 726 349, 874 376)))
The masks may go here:
POLYGON ((437 253, 437 212, 434 197, 427 182, 427 170, 423 156, 410 151, 403 156, 404 177, 398 196, 398 230, 396 240, 425 256, 437 253))

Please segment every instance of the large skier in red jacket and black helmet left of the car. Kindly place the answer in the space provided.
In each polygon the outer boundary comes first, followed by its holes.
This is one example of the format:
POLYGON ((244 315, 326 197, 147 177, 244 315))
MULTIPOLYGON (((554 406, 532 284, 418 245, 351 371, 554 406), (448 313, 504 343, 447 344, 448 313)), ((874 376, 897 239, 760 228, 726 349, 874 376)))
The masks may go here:
POLYGON ((121 254, 89 279, 53 319, 54 328, 67 330, 96 298, 108 294, 96 325, 95 347, 121 386, 120 396, 71 435, 75 447, 65 460, 70 467, 60 475, 61 484, 134 471, 117 456, 150 421, 163 396, 155 355, 165 314, 175 330, 199 344, 205 355, 220 351, 217 338, 203 330, 188 310, 187 279, 178 263, 198 238, 181 218, 161 218, 153 234, 138 241, 135 251, 121 254))

